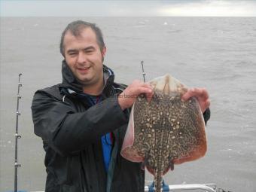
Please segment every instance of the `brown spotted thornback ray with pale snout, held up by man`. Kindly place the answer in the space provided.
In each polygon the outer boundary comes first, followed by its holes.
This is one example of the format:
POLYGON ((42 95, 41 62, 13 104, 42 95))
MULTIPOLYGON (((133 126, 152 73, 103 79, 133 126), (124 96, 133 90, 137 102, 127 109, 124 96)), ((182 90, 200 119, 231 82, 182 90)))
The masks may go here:
MULTIPOLYGON (((174 164, 197 160, 206 154, 206 127, 194 97, 181 96, 187 87, 171 75, 148 82, 154 90, 151 102, 141 95, 133 105, 121 155, 142 162, 152 175, 156 191, 161 178, 174 164)), ((144 167, 142 167, 144 168, 144 167)))

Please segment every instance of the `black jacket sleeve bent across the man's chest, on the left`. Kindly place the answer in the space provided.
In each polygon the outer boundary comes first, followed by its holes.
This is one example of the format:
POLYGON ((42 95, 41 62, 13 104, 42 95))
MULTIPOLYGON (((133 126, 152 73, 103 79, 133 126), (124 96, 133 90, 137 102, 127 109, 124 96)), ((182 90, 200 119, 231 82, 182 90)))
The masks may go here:
POLYGON ((117 98, 108 98, 84 112, 44 92, 37 92, 32 101, 34 131, 59 154, 81 151, 128 122, 117 98))

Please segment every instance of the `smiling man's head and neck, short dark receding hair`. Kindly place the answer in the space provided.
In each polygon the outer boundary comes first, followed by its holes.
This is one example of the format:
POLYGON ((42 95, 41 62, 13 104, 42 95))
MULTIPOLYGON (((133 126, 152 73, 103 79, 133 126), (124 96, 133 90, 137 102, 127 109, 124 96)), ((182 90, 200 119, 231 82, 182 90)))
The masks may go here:
POLYGON ((62 32, 60 52, 75 78, 83 84, 84 91, 103 86, 105 51, 102 32, 93 23, 78 20, 62 32))

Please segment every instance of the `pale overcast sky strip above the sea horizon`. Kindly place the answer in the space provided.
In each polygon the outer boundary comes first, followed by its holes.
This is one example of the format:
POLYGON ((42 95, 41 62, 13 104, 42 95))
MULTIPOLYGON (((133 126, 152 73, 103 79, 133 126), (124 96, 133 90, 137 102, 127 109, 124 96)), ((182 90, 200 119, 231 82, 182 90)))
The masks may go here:
POLYGON ((1 17, 256 17, 256 0, 0 0, 1 17))

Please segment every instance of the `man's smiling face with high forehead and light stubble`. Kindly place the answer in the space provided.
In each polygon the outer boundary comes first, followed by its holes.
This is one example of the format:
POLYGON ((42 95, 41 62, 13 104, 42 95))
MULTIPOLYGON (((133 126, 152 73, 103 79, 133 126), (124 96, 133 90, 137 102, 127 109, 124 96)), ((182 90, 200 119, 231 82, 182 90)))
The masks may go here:
POLYGON ((84 86, 103 82, 102 58, 105 47, 101 51, 96 41, 96 34, 91 28, 82 29, 77 37, 66 32, 64 37, 64 53, 69 68, 78 81, 84 86))

